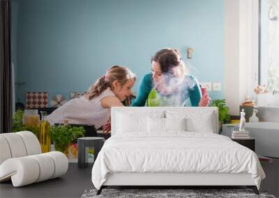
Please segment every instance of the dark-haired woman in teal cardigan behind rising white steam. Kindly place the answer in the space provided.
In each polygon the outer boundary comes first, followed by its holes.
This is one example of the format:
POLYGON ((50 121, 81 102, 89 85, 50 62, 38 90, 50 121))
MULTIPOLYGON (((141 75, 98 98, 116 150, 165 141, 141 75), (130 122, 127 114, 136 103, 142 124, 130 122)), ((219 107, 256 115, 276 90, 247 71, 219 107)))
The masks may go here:
POLYGON ((209 95, 202 96, 199 82, 187 74, 177 49, 161 49, 153 56, 151 64, 151 73, 146 74, 140 82, 132 106, 209 105, 209 95))

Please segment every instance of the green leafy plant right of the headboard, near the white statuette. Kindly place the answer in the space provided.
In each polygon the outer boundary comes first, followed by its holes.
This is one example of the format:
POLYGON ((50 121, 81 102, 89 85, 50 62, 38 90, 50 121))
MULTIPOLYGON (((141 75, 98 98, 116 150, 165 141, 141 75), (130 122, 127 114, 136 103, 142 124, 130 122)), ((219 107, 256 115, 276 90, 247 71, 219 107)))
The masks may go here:
POLYGON ((218 107, 219 110, 218 120, 219 120, 219 131, 220 131, 222 124, 228 123, 230 121, 229 108, 226 106, 225 99, 213 100, 211 106, 218 107))

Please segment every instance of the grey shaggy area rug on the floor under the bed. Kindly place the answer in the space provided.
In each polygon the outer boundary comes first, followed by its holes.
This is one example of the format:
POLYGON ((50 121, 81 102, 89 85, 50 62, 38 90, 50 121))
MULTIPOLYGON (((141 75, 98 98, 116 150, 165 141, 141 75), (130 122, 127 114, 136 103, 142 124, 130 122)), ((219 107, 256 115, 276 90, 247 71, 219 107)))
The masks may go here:
POLYGON ((93 197, 264 197, 276 198, 268 195, 267 192, 259 191, 260 195, 255 195, 251 189, 103 189, 100 195, 96 195, 97 190, 85 190, 82 198, 93 197))

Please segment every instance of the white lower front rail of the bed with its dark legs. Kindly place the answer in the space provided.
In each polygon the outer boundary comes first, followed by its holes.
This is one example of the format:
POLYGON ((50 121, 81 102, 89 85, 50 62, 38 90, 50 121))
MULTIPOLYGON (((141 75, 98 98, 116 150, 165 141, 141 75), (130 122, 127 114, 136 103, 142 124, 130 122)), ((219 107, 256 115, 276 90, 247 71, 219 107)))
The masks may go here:
POLYGON ((252 188, 256 195, 259 195, 257 186, 252 180, 251 174, 224 174, 224 173, 128 173, 119 172, 108 174, 107 180, 97 191, 97 195, 104 188, 109 186, 123 187, 163 187, 163 188, 189 188, 190 186, 199 186, 200 188, 216 186, 223 188, 225 186, 246 186, 252 188))

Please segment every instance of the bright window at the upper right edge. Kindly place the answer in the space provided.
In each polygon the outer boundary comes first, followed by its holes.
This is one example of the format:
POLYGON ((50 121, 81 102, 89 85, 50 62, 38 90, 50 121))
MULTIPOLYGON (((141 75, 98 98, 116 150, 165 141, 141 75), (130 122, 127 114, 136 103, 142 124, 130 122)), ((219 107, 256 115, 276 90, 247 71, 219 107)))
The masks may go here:
POLYGON ((279 0, 261 0, 260 83, 279 90, 279 0))

